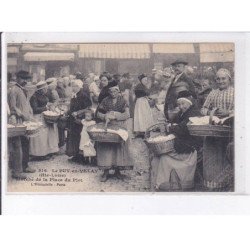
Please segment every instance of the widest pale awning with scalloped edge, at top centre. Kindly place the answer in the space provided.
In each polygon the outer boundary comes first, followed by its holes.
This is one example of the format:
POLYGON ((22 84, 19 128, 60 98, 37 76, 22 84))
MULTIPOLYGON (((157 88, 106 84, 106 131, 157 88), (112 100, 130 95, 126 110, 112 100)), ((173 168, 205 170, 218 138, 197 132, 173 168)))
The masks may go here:
POLYGON ((148 44, 81 44, 80 58, 147 59, 148 44))

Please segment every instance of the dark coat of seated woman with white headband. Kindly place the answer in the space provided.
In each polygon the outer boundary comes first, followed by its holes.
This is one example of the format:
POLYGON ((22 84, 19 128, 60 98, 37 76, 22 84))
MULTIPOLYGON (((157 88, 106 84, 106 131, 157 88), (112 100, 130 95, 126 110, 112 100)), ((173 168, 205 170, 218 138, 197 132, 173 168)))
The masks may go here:
POLYGON ((174 148, 177 153, 191 153, 202 146, 202 139, 189 134, 187 123, 190 117, 201 116, 200 111, 192 105, 185 113, 179 112, 170 127, 170 133, 176 136, 174 148))

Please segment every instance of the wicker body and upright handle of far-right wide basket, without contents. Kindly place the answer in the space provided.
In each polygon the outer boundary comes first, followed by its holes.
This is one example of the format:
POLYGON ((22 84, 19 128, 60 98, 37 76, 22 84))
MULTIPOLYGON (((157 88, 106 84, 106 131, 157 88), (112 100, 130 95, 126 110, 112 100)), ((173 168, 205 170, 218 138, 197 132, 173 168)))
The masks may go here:
POLYGON ((212 125, 213 115, 217 109, 213 109, 210 113, 208 125, 193 125, 188 123, 187 127, 190 135, 193 136, 210 136, 210 137, 231 137, 232 128, 225 125, 212 125))

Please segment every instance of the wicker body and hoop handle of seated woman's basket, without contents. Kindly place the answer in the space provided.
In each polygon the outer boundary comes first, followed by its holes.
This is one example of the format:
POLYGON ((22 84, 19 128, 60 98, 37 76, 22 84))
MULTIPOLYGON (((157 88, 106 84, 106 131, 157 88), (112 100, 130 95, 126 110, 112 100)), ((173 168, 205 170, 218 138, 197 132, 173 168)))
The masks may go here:
POLYGON ((145 133, 146 145, 148 146, 149 150, 153 152, 155 155, 167 154, 174 150, 174 139, 163 141, 163 142, 151 142, 148 140, 150 138, 150 132, 160 130, 160 127, 162 125, 165 126, 165 123, 155 124, 151 126, 150 128, 148 128, 145 133))

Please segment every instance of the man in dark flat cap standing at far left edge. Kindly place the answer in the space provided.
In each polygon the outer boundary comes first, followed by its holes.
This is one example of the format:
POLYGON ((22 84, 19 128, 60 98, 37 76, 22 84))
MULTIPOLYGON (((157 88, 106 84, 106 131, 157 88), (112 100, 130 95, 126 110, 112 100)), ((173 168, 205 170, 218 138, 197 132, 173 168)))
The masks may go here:
MULTIPOLYGON (((25 91, 25 86, 28 80, 31 79, 29 72, 21 70, 16 74, 16 84, 13 86, 8 94, 8 102, 10 106, 11 119, 16 120, 16 122, 23 122, 32 120, 33 111, 30 106, 30 102, 27 98, 27 93, 25 91)), ((18 169, 14 169, 13 177, 21 178, 25 177, 24 173, 33 173, 34 169, 30 168, 29 162, 29 140, 21 136, 21 155, 19 157, 19 162, 16 163, 18 169)))

